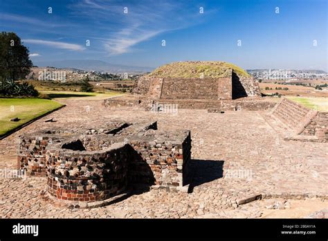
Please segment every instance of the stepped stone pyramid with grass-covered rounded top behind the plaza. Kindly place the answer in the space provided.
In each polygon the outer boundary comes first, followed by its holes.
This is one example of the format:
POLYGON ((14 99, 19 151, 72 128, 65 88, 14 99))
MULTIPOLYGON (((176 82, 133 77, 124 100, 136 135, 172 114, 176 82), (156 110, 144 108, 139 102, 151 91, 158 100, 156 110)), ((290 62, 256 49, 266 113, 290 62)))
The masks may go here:
POLYGON ((175 62, 159 67, 136 83, 133 95, 104 101, 109 107, 176 105, 179 109, 271 109, 259 85, 238 66, 226 62, 175 62))

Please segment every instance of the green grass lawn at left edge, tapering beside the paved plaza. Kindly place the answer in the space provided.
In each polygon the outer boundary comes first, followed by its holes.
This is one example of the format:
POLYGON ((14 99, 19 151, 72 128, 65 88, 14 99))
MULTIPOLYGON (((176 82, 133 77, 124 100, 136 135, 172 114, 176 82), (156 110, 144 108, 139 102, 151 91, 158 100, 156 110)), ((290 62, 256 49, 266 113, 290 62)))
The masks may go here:
POLYGON ((0 136, 10 130, 23 125, 48 111, 52 111, 62 104, 54 100, 37 98, 0 98, 0 136), (18 117, 19 121, 10 121, 18 117))

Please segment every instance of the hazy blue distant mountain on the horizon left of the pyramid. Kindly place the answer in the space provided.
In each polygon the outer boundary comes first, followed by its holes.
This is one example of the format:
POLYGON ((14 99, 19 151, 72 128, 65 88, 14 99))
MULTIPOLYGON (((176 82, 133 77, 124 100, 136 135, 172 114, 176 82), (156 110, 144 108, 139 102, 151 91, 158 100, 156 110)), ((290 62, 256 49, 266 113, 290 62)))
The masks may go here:
POLYGON ((153 70, 150 67, 128 66, 122 64, 110 64, 101 60, 60 60, 34 62, 39 67, 53 66, 61 69, 81 69, 84 71, 100 71, 111 73, 146 73, 153 70))

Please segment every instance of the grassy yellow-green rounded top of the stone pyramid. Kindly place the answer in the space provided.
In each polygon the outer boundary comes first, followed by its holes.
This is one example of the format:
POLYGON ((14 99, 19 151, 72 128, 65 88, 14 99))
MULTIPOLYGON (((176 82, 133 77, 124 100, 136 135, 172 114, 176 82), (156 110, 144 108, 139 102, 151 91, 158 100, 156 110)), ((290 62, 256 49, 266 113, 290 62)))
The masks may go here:
POLYGON ((230 69, 233 69, 240 77, 250 76, 239 66, 221 61, 174 62, 158 67, 148 76, 157 78, 200 78, 201 76, 203 78, 223 78, 230 75, 230 69))

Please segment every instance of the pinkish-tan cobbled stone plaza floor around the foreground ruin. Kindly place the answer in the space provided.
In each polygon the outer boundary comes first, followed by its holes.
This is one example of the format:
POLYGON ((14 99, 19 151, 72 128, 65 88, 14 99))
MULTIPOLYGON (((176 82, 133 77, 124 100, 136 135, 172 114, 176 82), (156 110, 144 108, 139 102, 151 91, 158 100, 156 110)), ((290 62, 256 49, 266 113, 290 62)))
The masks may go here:
POLYGON ((111 120, 158 120, 158 129, 191 130, 192 193, 150 190, 101 208, 63 208, 40 198, 45 178, 1 177, 0 217, 275 217, 268 210, 293 213, 302 205, 310 207, 298 217, 315 212, 321 213, 316 217, 327 217, 328 144, 284 141, 280 123, 271 120, 268 112, 179 109, 178 114, 170 114, 106 108, 100 100, 60 101, 67 106, 0 141, 1 169, 16 168, 21 133, 111 120), (44 123, 46 118, 57 121, 44 123), (264 199, 236 204, 254 193, 264 199))

